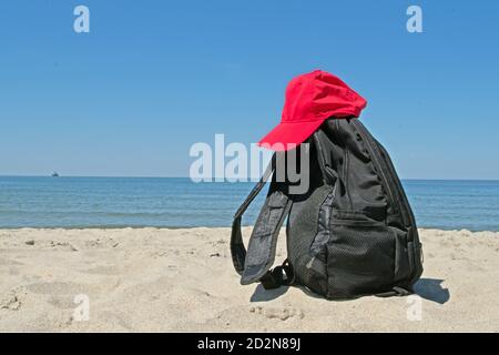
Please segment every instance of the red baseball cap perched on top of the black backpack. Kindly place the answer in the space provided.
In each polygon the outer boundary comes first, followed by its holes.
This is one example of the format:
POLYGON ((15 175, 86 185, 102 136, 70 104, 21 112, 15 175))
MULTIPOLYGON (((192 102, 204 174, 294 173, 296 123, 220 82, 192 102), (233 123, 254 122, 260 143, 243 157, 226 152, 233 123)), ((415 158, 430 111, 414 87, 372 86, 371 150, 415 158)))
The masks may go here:
POLYGON ((367 101, 338 77, 322 70, 294 78, 286 88, 281 123, 258 145, 287 151, 329 118, 358 118, 367 101))

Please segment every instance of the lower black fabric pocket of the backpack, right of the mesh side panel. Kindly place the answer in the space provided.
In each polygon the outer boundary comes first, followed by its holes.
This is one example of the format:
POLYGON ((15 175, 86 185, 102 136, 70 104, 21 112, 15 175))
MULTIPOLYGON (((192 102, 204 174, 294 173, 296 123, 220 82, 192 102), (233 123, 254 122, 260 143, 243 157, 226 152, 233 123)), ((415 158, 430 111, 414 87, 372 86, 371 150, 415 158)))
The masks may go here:
POLYGON ((395 235, 385 225, 342 221, 327 244, 328 297, 344 298, 391 288, 395 235))

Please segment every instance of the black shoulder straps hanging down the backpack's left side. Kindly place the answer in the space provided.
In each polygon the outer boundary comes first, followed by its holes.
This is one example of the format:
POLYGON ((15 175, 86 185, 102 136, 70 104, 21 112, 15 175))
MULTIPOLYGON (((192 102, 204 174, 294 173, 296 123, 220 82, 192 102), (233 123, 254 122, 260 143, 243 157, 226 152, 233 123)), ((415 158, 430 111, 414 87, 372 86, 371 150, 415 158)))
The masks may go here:
POLYGON ((244 212, 262 191, 274 169, 275 154, 262 179, 234 215, 231 253, 234 268, 242 276, 241 284, 243 285, 261 281, 265 288, 274 288, 292 281, 289 276, 292 268, 286 263, 276 267, 275 271, 269 271, 274 264, 281 226, 292 206, 292 200, 287 195, 287 184, 275 181, 271 183, 265 204, 249 237, 247 252, 241 233, 241 220, 244 212), (286 278, 283 277, 283 272, 286 273, 286 278))

